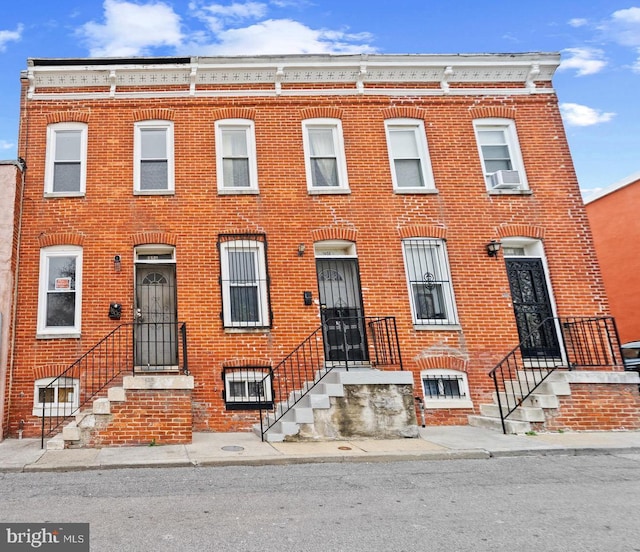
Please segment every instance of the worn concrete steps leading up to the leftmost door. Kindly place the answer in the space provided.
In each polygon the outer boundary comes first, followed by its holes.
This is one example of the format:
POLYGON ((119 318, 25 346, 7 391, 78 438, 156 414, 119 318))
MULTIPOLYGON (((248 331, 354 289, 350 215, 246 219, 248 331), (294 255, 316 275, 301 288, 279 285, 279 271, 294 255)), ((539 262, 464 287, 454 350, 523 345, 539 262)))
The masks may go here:
POLYGON ((75 419, 62 428, 62 431, 49 439, 47 450, 64 450, 83 446, 90 440, 91 432, 96 427, 108 423, 112 402, 124 402, 126 393, 123 387, 111 387, 107 390, 107 398, 93 401, 90 409, 78 412, 75 419))

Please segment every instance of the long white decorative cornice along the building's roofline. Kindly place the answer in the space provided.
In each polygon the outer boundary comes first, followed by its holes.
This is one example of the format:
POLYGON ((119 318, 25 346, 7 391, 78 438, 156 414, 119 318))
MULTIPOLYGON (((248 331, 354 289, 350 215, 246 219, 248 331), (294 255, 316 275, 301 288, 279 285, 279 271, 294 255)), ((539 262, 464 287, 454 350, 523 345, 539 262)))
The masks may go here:
MULTIPOLYGON (((384 93, 375 88, 379 84, 437 84, 438 94, 471 93, 471 89, 456 89, 455 85, 468 83, 522 84, 525 93, 539 90, 537 83, 550 82, 559 65, 558 54, 460 54, 460 55, 361 55, 361 56, 257 56, 240 58, 173 58, 158 63, 153 58, 135 60, 29 60, 25 77, 29 81, 28 97, 43 94, 40 89, 82 89, 92 87, 108 90, 111 97, 126 97, 118 89, 181 87, 187 95, 207 94, 212 86, 218 95, 257 93, 265 95, 264 85, 272 86, 272 93, 306 94, 305 87, 322 85, 320 93, 343 94, 355 90, 359 94, 384 93), (155 63, 154 63, 155 61, 155 63), (86 62, 86 63, 85 63, 86 62), (99 62, 99 63, 98 63, 99 62), (251 85, 262 85, 262 90, 251 90, 251 85), (333 88, 331 85, 350 85, 333 88), (237 87, 234 87, 237 85, 237 87), (300 86, 299 88, 297 86, 300 86), (352 87, 352 88, 351 88, 352 87), (463 90, 463 92, 459 92, 463 90)), ((321 88, 314 89, 316 92, 321 88)), ((403 93, 411 88, 402 88, 403 93)), ((480 93, 487 93, 481 89, 480 93)), ((546 89, 545 89, 546 90, 546 89)), ((146 92, 145 91, 145 92, 146 92)), ((77 93, 77 92, 76 92, 77 93)), ((434 92, 424 92, 433 94, 434 92)), ((473 93, 478 93, 475 89, 473 93)), ((504 93, 504 92, 502 92, 504 93)), ((95 92, 91 97, 101 95, 95 92)), ((160 90, 154 92, 163 95, 160 90)), ((423 94, 423 92, 421 92, 423 94)))

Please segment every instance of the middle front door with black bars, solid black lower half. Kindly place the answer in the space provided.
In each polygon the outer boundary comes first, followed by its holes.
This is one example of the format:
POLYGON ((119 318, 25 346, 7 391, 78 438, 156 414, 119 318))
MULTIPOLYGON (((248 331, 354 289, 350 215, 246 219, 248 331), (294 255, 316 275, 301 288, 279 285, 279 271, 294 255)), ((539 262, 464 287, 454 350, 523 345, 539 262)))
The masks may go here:
POLYGON ((356 259, 318 259, 324 352, 329 362, 368 360, 356 259))

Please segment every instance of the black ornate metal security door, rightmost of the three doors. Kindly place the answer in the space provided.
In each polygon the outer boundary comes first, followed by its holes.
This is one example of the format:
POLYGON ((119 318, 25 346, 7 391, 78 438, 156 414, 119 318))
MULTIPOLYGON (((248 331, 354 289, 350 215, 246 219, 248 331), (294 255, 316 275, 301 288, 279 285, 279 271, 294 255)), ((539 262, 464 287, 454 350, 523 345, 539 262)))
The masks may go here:
POLYGON ((553 317, 542 260, 506 259, 506 264, 522 356, 559 357, 560 345, 554 322, 550 320, 536 330, 544 320, 553 317))

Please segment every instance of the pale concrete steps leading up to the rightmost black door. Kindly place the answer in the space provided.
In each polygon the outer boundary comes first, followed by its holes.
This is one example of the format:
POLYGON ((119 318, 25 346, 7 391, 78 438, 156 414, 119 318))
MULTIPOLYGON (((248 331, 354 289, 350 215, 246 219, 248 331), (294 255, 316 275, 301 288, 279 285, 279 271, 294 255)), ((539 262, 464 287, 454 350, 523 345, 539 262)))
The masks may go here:
MULTIPOLYGON (((554 371, 540 383, 535 391, 522 401, 521 405, 512 412, 505 420, 505 430, 510 434, 527 433, 532 431, 532 423, 544 423, 546 421, 547 409, 557 409, 559 406, 558 397, 571 395, 571 386, 566 380, 566 372, 554 371)), ((500 393, 500 404, 502 411, 507 412, 507 403, 513 406, 514 395, 521 398, 526 393, 526 389, 533 387, 533 384, 540 381, 546 373, 539 370, 522 370, 517 373, 517 380, 505 382, 506 392, 500 393), (508 399, 507 399, 508 396, 508 399)), ((484 427, 502 432, 502 422, 500 420, 500 407, 498 406, 498 396, 493 394, 492 404, 480 405, 480 414, 473 414, 468 417, 469 425, 474 427, 484 427)))

